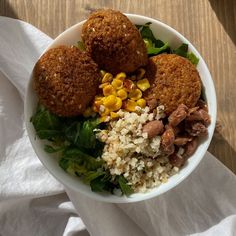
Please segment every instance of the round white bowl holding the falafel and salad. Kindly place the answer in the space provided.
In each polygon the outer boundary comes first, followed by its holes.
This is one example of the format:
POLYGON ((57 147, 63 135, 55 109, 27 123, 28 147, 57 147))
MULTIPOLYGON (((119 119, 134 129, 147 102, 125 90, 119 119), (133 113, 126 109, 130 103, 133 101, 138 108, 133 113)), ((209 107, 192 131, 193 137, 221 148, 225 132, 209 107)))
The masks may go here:
MULTIPOLYGON (((146 200, 149 198, 156 197, 168 190, 171 190, 176 185, 181 183, 187 176, 197 167, 199 162, 204 157, 204 154, 207 151, 207 148, 212 139, 212 135, 215 128, 216 122, 216 95, 214 84, 210 75, 210 72, 207 68, 206 63, 202 59, 199 52, 194 48, 194 46, 180 33, 171 28, 170 26, 148 17, 127 14, 128 18, 134 24, 145 24, 147 22, 152 22, 151 29, 154 35, 164 42, 169 42, 172 48, 177 48, 182 43, 187 43, 189 45, 189 51, 193 52, 200 60, 197 65, 197 69, 201 76, 203 88, 205 90, 205 99, 208 103, 209 114, 211 116, 211 124, 208 127, 209 135, 202 142, 200 142, 197 151, 188 159, 185 166, 180 170, 180 172, 169 178, 169 181, 165 184, 160 185, 159 187, 153 188, 147 193, 137 193, 133 194, 130 197, 122 196, 118 197, 111 194, 100 194, 92 192, 90 186, 85 185, 78 177, 74 177, 66 173, 59 165, 56 158, 53 158, 51 154, 48 154, 44 151, 44 141, 36 138, 35 130, 30 122, 30 117, 34 114, 37 106, 37 97, 35 92, 32 89, 32 75, 28 84, 26 99, 25 99, 25 122, 28 135, 31 141, 31 144, 40 159, 43 165, 48 169, 48 171, 62 184, 66 185, 70 189, 80 192, 96 200, 101 200, 104 202, 113 202, 113 203, 128 203, 128 202, 137 202, 146 200)), ((46 49, 53 48, 58 45, 73 45, 80 40, 81 28, 83 22, 80 22, 65 32, 60 34, 53 43, 46 49)))

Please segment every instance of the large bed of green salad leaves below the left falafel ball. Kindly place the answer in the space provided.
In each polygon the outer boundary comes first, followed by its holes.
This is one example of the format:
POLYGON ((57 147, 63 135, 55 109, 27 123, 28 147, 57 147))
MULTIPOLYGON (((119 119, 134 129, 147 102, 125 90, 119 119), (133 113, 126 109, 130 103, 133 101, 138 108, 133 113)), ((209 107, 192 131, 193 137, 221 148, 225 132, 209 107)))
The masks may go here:
POLYGON ((133 191, 123 176, 111 176, 100 159, 104 144, 96 139, 96 129, 101 128, 97 118, 59 117, 38 105, 31 122, 36 135, 49 141, 44 150, 58 153, 60 167, 82 178, 95 192, 121 189, 125 195, 133 191))

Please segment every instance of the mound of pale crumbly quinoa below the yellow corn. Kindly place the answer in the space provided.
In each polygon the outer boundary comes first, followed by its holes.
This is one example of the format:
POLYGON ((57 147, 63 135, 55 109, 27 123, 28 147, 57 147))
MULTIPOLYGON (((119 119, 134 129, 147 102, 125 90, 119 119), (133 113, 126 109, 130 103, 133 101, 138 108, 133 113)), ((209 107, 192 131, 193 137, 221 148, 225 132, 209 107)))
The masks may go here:
POLYGON ((178 172, 162 153, 161 137, 149 139, 143 133, 145 123, 163 118, 163 106, 155 112, 148 107, 139 112, 118 112, 120 118, 109 123, 108 130, 101 130, 97 138, 105 142, 101 158, 110 174, 123 175, 134 192, 148 189, 167 182, 169 176, 178 172))

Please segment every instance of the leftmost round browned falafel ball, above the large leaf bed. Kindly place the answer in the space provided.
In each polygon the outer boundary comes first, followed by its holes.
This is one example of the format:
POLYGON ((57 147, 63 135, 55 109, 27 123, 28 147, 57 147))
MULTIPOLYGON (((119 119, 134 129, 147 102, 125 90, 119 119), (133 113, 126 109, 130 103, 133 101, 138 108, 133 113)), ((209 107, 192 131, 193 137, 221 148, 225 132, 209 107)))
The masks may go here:
POLYGON ((34 69, 33 86, 39 101, 59 116, 84 112, 96 95, 99 83, 96 63, 76 47, 49 49, 34 69))

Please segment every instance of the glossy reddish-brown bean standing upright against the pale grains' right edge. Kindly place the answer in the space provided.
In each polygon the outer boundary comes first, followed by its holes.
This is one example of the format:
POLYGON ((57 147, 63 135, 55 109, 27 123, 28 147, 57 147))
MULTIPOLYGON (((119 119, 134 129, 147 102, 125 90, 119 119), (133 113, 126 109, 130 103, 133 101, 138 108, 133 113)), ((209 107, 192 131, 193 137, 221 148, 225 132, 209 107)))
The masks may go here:
POLYGON ((172 127, 168 126, 161 136, 161 147, 166 154, 172 154, 175 151, 174 141, 174 130, 172 127))

